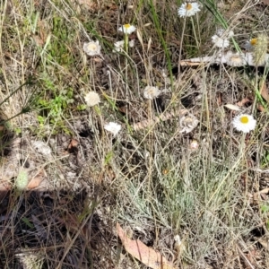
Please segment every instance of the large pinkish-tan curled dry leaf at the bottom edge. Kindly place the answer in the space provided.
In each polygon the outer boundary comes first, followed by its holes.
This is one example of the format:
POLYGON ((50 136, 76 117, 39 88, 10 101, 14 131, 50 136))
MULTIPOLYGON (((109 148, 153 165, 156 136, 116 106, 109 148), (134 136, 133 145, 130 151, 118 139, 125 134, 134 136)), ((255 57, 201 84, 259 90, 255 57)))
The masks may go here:
POLYGON ((164 256, 154 249, 147 247, 140 240, 128 239, 125 231, 117 223, 117 235, 121 239, 126 251, 141 261, 143 265, 152 269, 175 269, 164 256))

